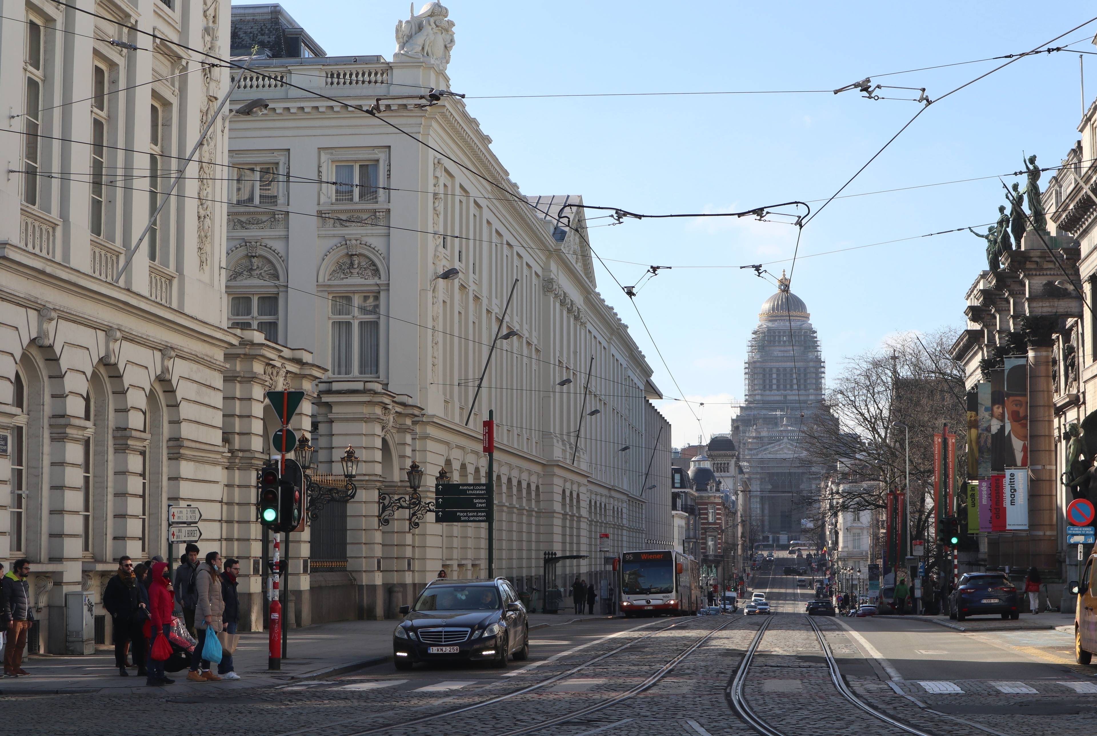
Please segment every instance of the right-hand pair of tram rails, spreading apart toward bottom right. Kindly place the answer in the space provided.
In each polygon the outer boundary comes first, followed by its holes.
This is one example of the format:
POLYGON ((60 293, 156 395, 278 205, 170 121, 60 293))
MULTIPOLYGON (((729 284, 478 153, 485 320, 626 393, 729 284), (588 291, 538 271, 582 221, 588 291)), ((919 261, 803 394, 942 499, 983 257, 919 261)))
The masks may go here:
MULTIPOLYGON (((795 724, 795 728, 790 726, 782 726, 782 724, 774 724, 774 718, 767 716, 766 714, 759 714, 760 706, 748 701, 746 697, 746 689, 750 678, 748 673, 750 667, 754 664, 755 656, 758 654, 758 649, 761 646, 762 639, 766 637, 767 631, 770 624, 774 620, 787 619, 791 616, 783 616, 778 614, 774 618, 767 618, 766 622, 758 629, 758 633, 755 634, 754 639, 750 642, 750 646, 747 647, 746 652, 743 654, 743 660, 739 663, 735 675, 732 677, 731 682, 727 686, 726 698, 728 704, 735 711, 735 713, 746 723, 748 726, 754 728, 762 736, 793 736, 793 734, 803 733, 803 723, 800 722, 795 724)), ((858 698, 849 686, 846 684, 845 679, 841 677, 841 672, 838 670, 838 663, 834 657, 834 653, 830 650, 830 645, 827 644, 826 637, 823 635, 823 630, 819 629, 818 624, 810 615, 802 616, 811 625, 811 631, 814 632, 816 639, 818 641, 819 649, 823 653, 827 673, 829 675, 830 682, 833 683, 836 692, 835 700, 840 697, 842 700, 853 705, 856 711, 850 711, 849 709, 842 709, 842 713, 847 721, 853 721, 856 723, 847 723, 842 726, 844 733, 849 733, 849 728, 863 727, 866 733, 879 734, 880 736, 887 736, 890 734, 913 734, 914 736, 935 736, 935 734, 919 731, 913 726, 906 725, 875 709, 871 707, 860 698, 858 698)), ((787 630, 790 631, 790 630, 787 630)), ((776 632, 770 632, 773 634, 776 632)), ((821 695, 823 693, 815 693, 821 695)), ((759 700, 765 699, 765 695, 759 698, 759 700)), ((818 701, 815 701, 818 704, 818 701)), ((837 703, 836 703, 837 705, 837 703)), ((770 710, 770 709, 767 709, 770 710)))

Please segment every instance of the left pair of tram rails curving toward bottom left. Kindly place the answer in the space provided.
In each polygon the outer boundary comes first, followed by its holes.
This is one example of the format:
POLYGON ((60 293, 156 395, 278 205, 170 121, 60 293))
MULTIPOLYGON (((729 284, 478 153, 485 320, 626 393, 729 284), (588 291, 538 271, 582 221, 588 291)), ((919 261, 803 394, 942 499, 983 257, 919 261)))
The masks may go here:
MULTIPOLYGON (((659 629, 656 629, 655 631, 651 631, 651 632, 648 632, 646 634, 643 634, 642 636, 637 636, 635 638, 632 638, 629 642, 625 642, 624 644, 622 644, 622 645, 620 645, 618 647, 614 647, 613 649, 611 649, 609 652, 602 653, 602 654, 600 654, 600 655, 598 655, 596 657, 592 657, 592 658, 590 658, 590 659, 588 659, 586 661, 583 661, 583 663, 580 663, 580 664, 578 664, 578 665, 576 665, 574 667, 570 667, 570 668, 568 668, 568 669, 566 669, 566 670, 564 670, 562 672, 557 672, 555 675, 552 675, 551 677, 541 679, 541 680, 539 680, 539 681, 536 681, 534 683, 531 683, 531 684, 529 684, 527 687, 523 687, 523 688, 519 688, 519 689, 517 689, 514 691, 502 693, 502 694, 496 695, 494 698, 486 698, 484 700, 480 700, 480 701, 477 701, 477 702, 474 702, 474 703, 470 703, 467 705, 462 705, 461 707, 448 709, 448 710, 440 711, 440 712, 437 712, 437 713, 430 713, 430 714, 427 714, 427 715, 422 715, 422 716, 419 716, 419 717, 416 717, 416 718, 403 720, 403 721, 394 722, 394 723, 389 723, 389 724, 382 724, 382 725, 371 726, 369 728, 363 728, 363 729, 360 729, 360 731, 343 731, 343 729, 338 729, 338 727, 339 726, 347 726, 347 725, 353 724, 355 722, 357 723, 361 723, 362 722, 362 717, 361 716, 359 716, 359 717, 351 717, 351 718, 340 718, 338 721, 327 722, 325 724, 320 724, 320 725, 317 725, 317 726, 312 726, 312 727, 307 727, 307 728, 298 728, 298 729, 285 732, 285 733, 279 734, 278 736, 302 736, 304 734, 313 734, 313 733, 321 733, 321 734, 325 734, 325 736, 336 736, 337 734, 338 734, 338 736, 371 736, 373 734, 383 734, 383 733, 386 733, 386 732, 393 732, 395 729, 399 729, 402 733, 408 733, 409 729, 414 729, 416 726, 428 724, 428 723, 433 722, 433 721, 438 721, 438 720, 442 720, 442 718, 452 720, 454 716, 459 716, 459 715, 462 715, 462 714, 466 714, 466 713, 471 713, 471 712, 475 712, 475 711, 480 711, 480 710, 489 709, 493 705, 496 705, 496 704, 499 704, 499 703, 504 703, 506 701, 510 701, 510 700, 513 700, 513 699, 522 697, 522 695, 528 695, 528 694, 531 694, 531 693, 535 693, 539 690, 543 690, 543 689, 545 689, 545 688, 547 688, 550 686, 559 683, 559 682, 562 682, 564 680, 567 680, 568 678, 572 678, 572 677, 574 677, 574 676, 576 676, 578 673, 583 673, 585 670, 588 670, 588 669, 590 669, 592 667, 596 667, 597 665, 599 665, 599 663, 604 663, 606 660, 610 659, 614 655, 617 655, 617 654, 619 654, 621 652, 624 652, 624 650, 626 650, 629 648, 635 647, 637 644, 641 644, 641 643, 643 643, 643 642, 645 642, 647 639, 651 639, 652 637, 657 637, 659 634, 666 633, 666 632, 668 632, 670 630, 674 630, 674 629, 677 629, 677 627, 680 627, 680 626, 689 626, 690 624, 693 624, 695 622, 708 622, 708 621, 709 621, 709 619, 693 619, 693 618, 681 619, 681 620, 674 621, 669 625, 661 626, 659 629), (333 729, 338 729, 338 731, 333 731, 333 729)), ((647 690, 653 684, 655 684, 656 682, 658 682, 660 679, 663 679, 664 677, 666 677, 666 675, 669 673, 677 664, 679 664, 682 659, 685 659, 687 656, 689 656, 690 653, 692 653, 693 650, 695 650, 699 646, 703 645, 704 642, 706 642, 713 634, 715 634, 719 631, 722 631, 722 630, 726 629, 731 624, 735 623, 735 621, 736 621, 736 619, 728 618, 728 620, 725 623, 721 624, 720 626, 717 626, 715 629, 712 629, 712 630, 709 630, 709 631, 705 631, 705 633, 702 636, 700 636, 695 642, 693 642, 686 649, 679 652, 674 657, 671 657, 669 661, 666 661, 652 676, 649 676, 647 679, 645 679, 643 682, 638 683, 637 686, 635 686, 633 688, 630 688, 625 692, 617 693, 615 695, 610 697, 609 699, 604 700, 603 702, 600 702, 598 704, 593 704, 593 705, 590 705, 590 706, 587 706, 587 707, 579 709, 579 710, 577 710, 575 712, 572 712, 569 714, 564 714, 564 715, 559 715, 559 716, 555 716, 555 717, 548 718, 548 720, 546 720, 543 723, 538 723, 538 724, 533 724, 533 725, 523 726, 523 727, 521 727, 519 729, 514 729, 514 731, 511 731, 511 732, 501 732, 501 733, 499 733, 498 736, 519 736, 519 734, 533 733, 534 731, 539 731, 541 728, 547 728, 551 725, 556 725, 556 724, 559 724, 559 723, 565 723, 565 722, 567 722, 569 720, 581 717, 583 715, 587 715, 589 713, 593 713, 593 712, 602 710, 604 707, 609 707, 611 705, 614 705, 614 704, 617 704, 617 703, 619 703, 619 702, 621 702, 623 700, 627 700, 629 698, 632 698, 632 697, 634 697, 634 695, 643 692, 644 690, 647 690)), ((652 625, 654 625, 654 624, 655 624, 655 622, 653 622, 652 625)), ((633 630, 633 631, 635 631, 635 630, 633 630)), ((688 629, 685 630, 685 631, 688 631, 688 629)), ((606 637, 606 638, 611 638, 611 637, 606 637)))

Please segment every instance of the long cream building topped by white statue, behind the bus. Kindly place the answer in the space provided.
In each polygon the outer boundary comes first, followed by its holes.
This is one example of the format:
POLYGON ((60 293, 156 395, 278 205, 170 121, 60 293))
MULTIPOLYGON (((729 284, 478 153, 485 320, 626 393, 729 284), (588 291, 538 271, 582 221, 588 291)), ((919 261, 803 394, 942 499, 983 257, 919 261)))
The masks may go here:
POLYGON ((224 326, 315 355, 318 465, 363 458, 358 496, 302 537, 298 619, 382 616, 439 569, 488 574, 485 525, 383 501, 412 463, 428 501, 443 472, 486 480, 489 411, 496 575, 540 589, 556 552, 588 555, 558 579, 601 580, 624 550, 669 547, 669 427, 597 292, 583 200, 523 195, 464 101, 428 94, 450 89, 448 11, 402 21, 392 60, 326 56, 276 4, 233 13, 234 53, 260 48, 233 105, 269 106, 229 129, 224 326))

